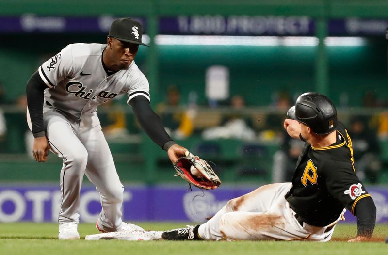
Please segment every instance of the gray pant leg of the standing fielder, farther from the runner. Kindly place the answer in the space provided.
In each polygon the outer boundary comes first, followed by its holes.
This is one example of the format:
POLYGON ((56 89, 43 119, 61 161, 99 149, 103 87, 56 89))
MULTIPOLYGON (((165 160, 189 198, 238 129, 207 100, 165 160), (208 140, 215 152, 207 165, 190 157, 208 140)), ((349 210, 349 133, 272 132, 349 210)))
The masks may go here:
POLYGON ((56 111, 44 112, 44 123, 51 150, 63 158, 61 170, 61 212, 59 223, 79 222, 80 191, 88 153, 70 121, 56 111))

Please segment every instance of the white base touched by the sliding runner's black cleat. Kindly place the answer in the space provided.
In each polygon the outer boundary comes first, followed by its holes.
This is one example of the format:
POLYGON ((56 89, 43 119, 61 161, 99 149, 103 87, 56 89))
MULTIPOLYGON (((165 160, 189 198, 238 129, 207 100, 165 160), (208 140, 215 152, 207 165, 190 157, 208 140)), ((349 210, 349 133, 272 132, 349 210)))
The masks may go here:
POLYGON ((152 241, 152 240, 162 239, 162 233, 163 231, 119 230, 119 231, 109 232, 109 233, 87 235, 85 237, 85 240, 116 239, 116 240, 126 240, 126 241, 152 241))

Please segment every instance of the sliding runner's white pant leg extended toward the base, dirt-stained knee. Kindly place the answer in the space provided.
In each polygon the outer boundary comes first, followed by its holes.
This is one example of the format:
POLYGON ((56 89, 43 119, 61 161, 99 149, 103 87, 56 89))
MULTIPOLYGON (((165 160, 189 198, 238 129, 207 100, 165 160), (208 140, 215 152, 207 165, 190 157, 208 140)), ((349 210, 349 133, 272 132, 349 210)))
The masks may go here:
MULTIPOLYGON (((287 192, 291 188, 291 183, 268 184, 234 198, 218 211, 208 222, 199 226, 198 234, 205 240, 219 240, 224 238, 224 233, 220 229, 221 218, 231 212, 256 212, 262 213, 269 210, 279 192, 287 192)), ((284 195, 283 195, 284 196, 284 195)), ((225 227, 225 221, 223 227, 225 227)), ((232 224, 232 223, 231 223, 232 224)), ((241 226, 242 230, 244 226, 241 226)))

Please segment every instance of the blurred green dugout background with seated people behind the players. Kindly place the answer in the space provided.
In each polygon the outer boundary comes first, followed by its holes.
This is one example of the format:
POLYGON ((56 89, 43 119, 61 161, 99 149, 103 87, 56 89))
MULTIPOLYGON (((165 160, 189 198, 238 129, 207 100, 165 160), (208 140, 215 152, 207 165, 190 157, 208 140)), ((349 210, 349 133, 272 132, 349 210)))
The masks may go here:
MULTIPOLYGON (((146 40, 154 39, 135 60, 150 81, 153 109, 179 144, 214 162, 225 183, 290 180, 303 143, 286 135, 283 121, 296 97, 309 91, 337 106, 360 179, 388 183, 388 12, 367 16, 360 7, 322 20, 295 5, 272 12, 252 6, 247 14, 225 7, 210 15, 210 1, 197 7, 198 14, 160 11, 155 23, 146 10, 123 13, 118 4, 93 13, 80 8, 72 16, 45 13, 36 4, 31 13, 30 5, 0 11, 6 38, 0 41, 0 181, 57 181, 60 160, 51 154, 37 164, 30 154, 26 82, 67 44, 103 44, 109 22, 131 16, 145 24, 146 40)), ((165 152, 141 131, 125 96, 97 113, 124 182, 176 181, 165 152)))

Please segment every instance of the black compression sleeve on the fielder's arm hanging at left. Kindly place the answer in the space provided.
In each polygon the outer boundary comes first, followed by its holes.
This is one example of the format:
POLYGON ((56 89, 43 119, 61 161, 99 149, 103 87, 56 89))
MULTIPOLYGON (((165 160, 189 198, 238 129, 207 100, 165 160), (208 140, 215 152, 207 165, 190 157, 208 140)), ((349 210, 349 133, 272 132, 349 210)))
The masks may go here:
POLYGON ((28 111, 30 112, 34 137, 45 135, 45 129, 43 127, 43 92, 47 88, 45 82, 40 78, 38 71, 27 82, 27 105, 28 111))

